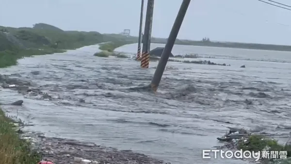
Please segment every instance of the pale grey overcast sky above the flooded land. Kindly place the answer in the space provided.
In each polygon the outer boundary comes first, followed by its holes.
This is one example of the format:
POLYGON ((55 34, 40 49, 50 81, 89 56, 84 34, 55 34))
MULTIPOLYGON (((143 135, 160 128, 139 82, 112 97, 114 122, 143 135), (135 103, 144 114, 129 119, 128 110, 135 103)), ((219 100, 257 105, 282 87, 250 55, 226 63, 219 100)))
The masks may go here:
MULTIPOLYGON (((155 0, 154 37, 168 37, 181 1, 155 0)), ((291 0, 276 1, 291 5, 291 0)), ((131 35, 138 35, 141 0, 1 0, 1 3, 2 26, 32 27, 42 22, 63 30, 120 33, 130 29, 131 35)), ((259 0, 192 0, 178 38, 203 37, 291 45, 291 11, 259 0)))

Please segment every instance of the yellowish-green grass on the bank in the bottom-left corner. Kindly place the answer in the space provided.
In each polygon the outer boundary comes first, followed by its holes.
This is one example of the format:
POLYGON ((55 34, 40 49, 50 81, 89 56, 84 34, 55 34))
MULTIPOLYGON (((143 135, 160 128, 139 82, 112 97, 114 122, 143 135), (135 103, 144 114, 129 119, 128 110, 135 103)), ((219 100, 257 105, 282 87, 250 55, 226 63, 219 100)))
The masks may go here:
POLYGON ((1 164, 37 164, 41 157, 32 152, 30 143, 19 138, 12 120, 0 109, 0 163, 1 164))

